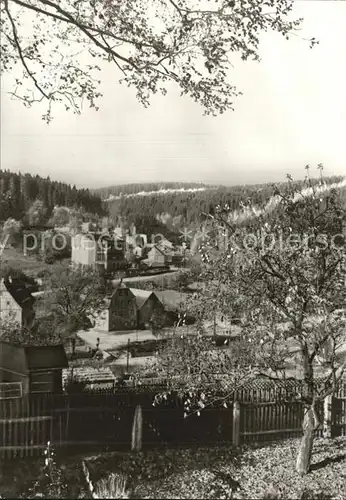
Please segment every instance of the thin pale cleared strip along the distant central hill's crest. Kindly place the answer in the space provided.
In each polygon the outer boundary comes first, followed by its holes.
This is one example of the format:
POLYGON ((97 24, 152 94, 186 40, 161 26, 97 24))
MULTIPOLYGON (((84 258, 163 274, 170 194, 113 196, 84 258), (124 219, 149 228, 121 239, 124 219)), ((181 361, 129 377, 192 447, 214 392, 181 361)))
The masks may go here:
POLYGON ((197 182, 149 182, 149 183, 135 183, 135 184, 119 184, 118 186, 110 186, 100 189, 95 189, 93 192, 99 195, 103 200, 112 200, 119 196, 134 196, 134 195, 148 195, 153 194, 166 194, 167 192, 179 191, 205 191, 211 189, 213 186, 197 182))

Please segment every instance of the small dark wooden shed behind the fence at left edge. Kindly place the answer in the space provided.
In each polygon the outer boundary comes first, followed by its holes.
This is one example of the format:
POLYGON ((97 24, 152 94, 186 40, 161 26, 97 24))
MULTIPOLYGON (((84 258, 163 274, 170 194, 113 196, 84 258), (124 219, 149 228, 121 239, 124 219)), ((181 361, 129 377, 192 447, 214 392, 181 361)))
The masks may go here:
POLYGON ((20 382, 22 394, 61 393, 68 367, 62 344, 19 345, 0 341, 0 382, 20 382))

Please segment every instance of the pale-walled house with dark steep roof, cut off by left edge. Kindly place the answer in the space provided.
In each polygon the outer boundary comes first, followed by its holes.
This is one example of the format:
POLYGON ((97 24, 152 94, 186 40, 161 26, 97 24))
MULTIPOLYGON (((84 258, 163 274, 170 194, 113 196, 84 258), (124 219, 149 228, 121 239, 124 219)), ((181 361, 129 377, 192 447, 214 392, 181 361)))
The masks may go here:
POLYGON ((0 281, 0 318, 30 328, 35 317, 34 297, 22 281, 9 277, 0 281))

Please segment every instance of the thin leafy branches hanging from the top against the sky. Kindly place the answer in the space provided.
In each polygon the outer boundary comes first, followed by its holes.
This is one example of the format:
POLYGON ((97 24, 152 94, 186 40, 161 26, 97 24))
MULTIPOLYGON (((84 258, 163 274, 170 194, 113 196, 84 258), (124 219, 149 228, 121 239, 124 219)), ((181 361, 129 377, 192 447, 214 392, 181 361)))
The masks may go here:
MULTIPOLYGON (((12 95, 80 113, 97 107, 103 62, 147 106, 173 82, 206 114, 232 110, 240 93, 229 75, 235 56, 260 59, 261 32, 289 39, 302 19, 292 0, 1 0, 1 70, 12 95)), ((317 43, 314 38, 311 44, 317 43)))

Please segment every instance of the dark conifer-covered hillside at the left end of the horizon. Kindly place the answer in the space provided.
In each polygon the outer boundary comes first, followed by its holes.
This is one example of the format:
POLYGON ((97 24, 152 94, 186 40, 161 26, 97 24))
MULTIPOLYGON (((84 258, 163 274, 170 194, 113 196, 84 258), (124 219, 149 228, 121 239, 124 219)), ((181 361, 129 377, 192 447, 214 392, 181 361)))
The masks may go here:
POLYGON ((0 221, 10 217, 23 220, 37 200, 42 202, 46 217, 50 216, 55 206, 104 214, 100 196, 88 189, 77 189, 76 186, 52 181, 49 177, 0 170, 0 221))

